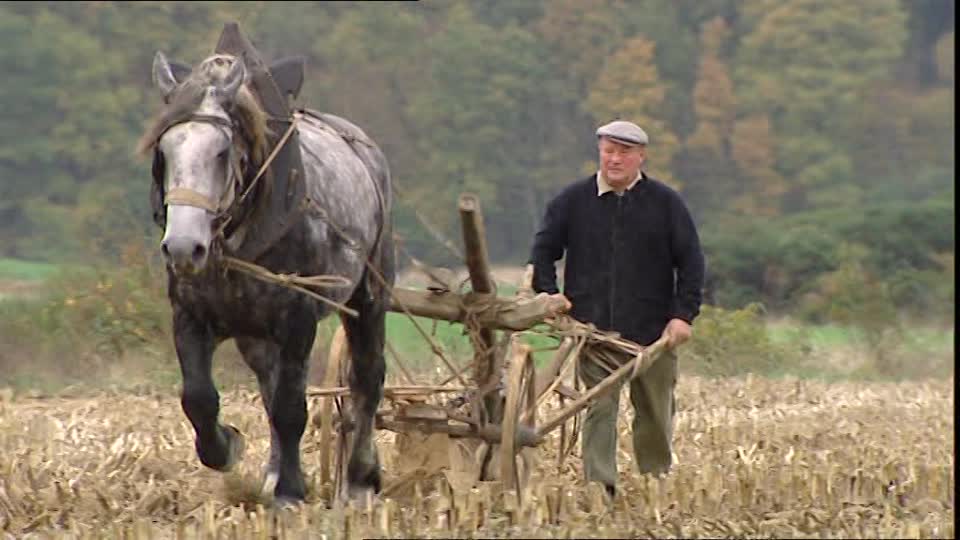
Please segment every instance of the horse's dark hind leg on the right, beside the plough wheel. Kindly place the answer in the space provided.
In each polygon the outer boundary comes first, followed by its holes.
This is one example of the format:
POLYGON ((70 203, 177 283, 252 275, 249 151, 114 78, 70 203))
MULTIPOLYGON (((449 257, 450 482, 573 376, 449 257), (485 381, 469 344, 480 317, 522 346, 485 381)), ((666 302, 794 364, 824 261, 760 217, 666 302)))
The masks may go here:
POLYGON ((367 298, 364 287, 358 287, 351 302, 360 316, 343 317, 350 344, 350 391, 354 403, 353 451, 347 465, 350 491, 381 489, 380 460, 373 441, 377 408, 383 397, 386 363, 383 347, 386 339, 386 310, 380 302, 367 298))

